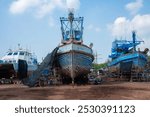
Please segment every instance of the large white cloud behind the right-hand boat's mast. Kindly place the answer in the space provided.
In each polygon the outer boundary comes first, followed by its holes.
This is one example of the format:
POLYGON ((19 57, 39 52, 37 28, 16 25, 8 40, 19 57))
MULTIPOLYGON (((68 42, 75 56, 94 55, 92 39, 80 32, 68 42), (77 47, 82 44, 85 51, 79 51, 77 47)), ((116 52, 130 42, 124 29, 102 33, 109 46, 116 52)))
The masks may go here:
POLYGON ((112 36, 126 37, 131 39, 131 32, 135 30, 140 40, 144 40, 145 47, 150 45, 150 14, 136 15, 133 19, 118 17, 113 24, 109 25, 112 36))

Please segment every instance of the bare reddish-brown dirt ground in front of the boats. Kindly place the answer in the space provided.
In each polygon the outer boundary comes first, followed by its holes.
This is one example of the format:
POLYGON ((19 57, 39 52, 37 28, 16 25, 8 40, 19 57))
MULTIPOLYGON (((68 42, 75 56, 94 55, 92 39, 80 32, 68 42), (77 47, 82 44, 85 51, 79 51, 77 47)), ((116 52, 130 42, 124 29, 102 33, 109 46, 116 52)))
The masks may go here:
POLYGON ((2 100, 132 100, 150 99, 150 82, 109 82, 100 85, 61 85, 29 88, 0 85, 2 100))

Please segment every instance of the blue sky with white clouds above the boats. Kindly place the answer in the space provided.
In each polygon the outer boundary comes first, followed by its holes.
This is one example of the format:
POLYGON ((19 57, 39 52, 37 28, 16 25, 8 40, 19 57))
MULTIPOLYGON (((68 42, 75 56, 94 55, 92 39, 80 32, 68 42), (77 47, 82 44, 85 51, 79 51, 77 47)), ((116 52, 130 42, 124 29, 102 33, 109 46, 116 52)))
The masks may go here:
POLYGON ((98 62, 108 60, 115 38, 131 39, 136 30, 150 45, 150 0, 0 0, 0 57, 20 44, 41 61, 61 42, 59 17, 68 8, 84 17, 84 44, 94 44, 98 62))

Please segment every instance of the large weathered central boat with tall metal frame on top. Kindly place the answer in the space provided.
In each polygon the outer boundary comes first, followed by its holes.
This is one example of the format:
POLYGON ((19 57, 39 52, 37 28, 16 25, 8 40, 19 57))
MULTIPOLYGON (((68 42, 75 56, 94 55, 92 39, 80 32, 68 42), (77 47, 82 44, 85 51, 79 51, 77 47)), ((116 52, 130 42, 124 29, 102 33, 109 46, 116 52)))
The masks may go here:
MULTIPOLYGON (((62 42, 57 52, 60 75, 71 78, 72 83, 84 80, 93 62, 92 44, 83 44, 83 17, 74 17, 72 11, 68 18, 61 17, 62 42)), ((86 79, 86 78, 85 78, 86 79)))

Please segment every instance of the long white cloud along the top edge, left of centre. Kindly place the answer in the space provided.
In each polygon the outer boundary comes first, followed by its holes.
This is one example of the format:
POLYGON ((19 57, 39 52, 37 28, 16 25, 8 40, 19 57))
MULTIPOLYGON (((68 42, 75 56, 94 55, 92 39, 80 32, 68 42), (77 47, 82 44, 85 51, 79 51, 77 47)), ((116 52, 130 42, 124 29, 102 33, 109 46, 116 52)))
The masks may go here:
POLYGON ((36 16, 44 17, 53 13, 56 8, 77 10, 79 6, 79 0, 13 0, 9 10, 12 14, 22 14, 27 10, 34 9, 36 16))

